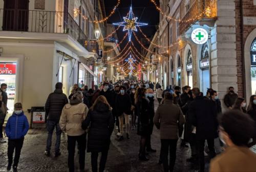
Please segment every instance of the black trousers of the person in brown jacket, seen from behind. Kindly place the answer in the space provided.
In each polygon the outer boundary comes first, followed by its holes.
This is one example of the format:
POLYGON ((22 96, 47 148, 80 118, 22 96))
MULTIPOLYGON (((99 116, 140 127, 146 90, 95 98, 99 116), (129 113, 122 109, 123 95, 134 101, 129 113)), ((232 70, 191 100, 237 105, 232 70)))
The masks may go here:
POLYGON ((163 162, 164 172, 173 171, 176 161, 176 139, 161 139, 161 160, 163 162), (168 165, 168 154, 170 156, 168 165))

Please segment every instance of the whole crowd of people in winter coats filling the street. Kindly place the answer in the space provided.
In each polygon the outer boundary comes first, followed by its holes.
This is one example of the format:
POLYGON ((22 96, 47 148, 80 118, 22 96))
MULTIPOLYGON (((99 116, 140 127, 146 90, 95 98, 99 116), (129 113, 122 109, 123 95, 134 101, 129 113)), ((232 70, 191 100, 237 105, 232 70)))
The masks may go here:
MULTIPOLYGON (((5 86, 1 85, 2 95, 5 86)), ((163 90, 159 83, 129 80, 104 82, 89 89, 81 81, 72 87, 67 97, 62 86, 56 83, 55 91, 45 104, 48 131, 45 154, 51 156, 54 128, 55 157, 61 155, 61 133, 67 133, 69 171, 77 171, 74 165, 76 143, 80 171, 84 171, 86 151, 91 153, 92 171, 104 171, 115 129, 120 142, 132 139, 130 130, 137 129, 140 136, 138 159, 148 161, 147 153, 156 153, 151 145, 154 125, 160 130, 159 164, 163 164, 164 172, 174 170, 177 143, 191 149, 191 157, 186 161, 193 163, 196 170, 205 170, 205 156, 208 155, 212 159, 209 171, 256 171, 256 155, 249 150, 256 144, 256 95, 250 97, 246 109, 245 99, 238 97, 230 87, 224 97, 224 104, 230 110, 222 113, 218 92, 213 89, 203 95, 198 88, 191 89, 187 85, 176 86, 174 90, 169 85, 163 90), (156 112, 155 100, 158 101, 156 112), (217 154, 220 155, 216 157, 217 154)), ((5 104, 2 99, 0 102, 5 104)), ((7 169, 11 169, 15 149, 13 170, 16 171, 29 124, 22 104, 16 103, 14 109, 6 126, 9 138, 7 169)), ((2 114, 4 111, 7 110, 2 108, 2 114)))

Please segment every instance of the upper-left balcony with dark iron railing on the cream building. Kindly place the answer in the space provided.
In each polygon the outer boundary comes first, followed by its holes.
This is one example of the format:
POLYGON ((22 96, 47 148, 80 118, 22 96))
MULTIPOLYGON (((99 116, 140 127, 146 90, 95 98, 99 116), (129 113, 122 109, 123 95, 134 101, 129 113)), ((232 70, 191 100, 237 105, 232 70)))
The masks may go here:
POLYGON ((62 33, 88 49, 88 38, 68 12, 0 9, 0 31, 62 33))

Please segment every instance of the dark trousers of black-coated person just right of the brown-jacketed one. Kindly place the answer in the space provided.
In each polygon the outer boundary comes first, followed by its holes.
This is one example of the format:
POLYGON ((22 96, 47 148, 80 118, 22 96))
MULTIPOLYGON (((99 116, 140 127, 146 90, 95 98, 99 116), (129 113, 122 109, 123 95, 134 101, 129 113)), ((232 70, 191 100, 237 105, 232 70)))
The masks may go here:
MULTIPOLYGON (((214 158, 216 156, 214 149, 214 139, 207 139, 208 149, 210 150, 209 156, 210 158, 214 158)), ((199 159, 199 169, 200 171, 204 171, 204 145, 205 140, 197 140, 197 155, 199 159)))

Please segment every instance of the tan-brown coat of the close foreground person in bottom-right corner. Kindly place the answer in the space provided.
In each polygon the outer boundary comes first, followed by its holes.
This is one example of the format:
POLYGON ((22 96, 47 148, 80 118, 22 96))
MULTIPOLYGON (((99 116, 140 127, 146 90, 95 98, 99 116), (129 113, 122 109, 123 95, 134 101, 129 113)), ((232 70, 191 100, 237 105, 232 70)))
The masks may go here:
POLYGON ((225 152, 210 162, 210 172, 254 172, 256 154, 247 147, 227 147, 225 152))

